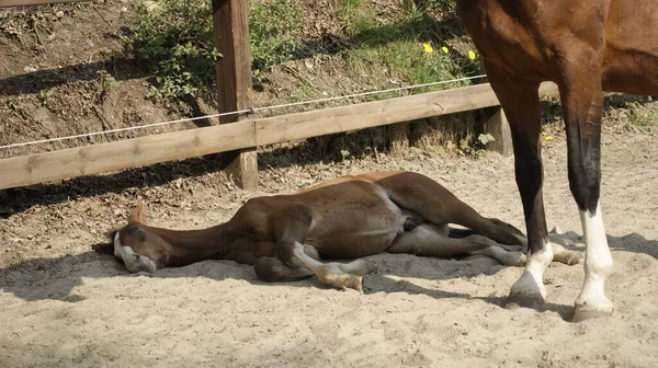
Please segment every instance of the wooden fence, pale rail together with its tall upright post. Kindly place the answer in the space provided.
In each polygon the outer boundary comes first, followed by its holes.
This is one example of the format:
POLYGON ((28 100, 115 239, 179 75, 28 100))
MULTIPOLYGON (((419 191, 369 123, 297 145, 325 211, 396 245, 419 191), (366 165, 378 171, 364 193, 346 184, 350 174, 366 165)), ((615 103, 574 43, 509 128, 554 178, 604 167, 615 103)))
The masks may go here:
MULTIPOLYGON (((0 7, 43 4, 48 0, 0 0, 0 7)), ((215 38, 225 47, 237 47, 245 39, 246 11, 242 0, 213 0, 215 11, 215 38), (231 8, 232 7, 232 8, 231 8), (239 8, 239 9, 238 9, 239 8), (218 31, 218 21, 230 24, 218 31), (220 38, 220 39, 218 39, 220 38)), ((248 45, 248 43, 247 43, 248 45)), ((245 68, 247 57, 232 55, 217 67, 220 112, 231 112, 248 106, 245 68), (226 90, 229 90, 227 92, 226 90)), ((541 94, 555 94, 555 84, 544 83, 541 94)), ((106 171, 136 168, 158 162, 181 160, 216 152, 237 152, 238 176, 245 187, 253 187, 257 177, 256 147, 295 139, 355 130, 418 118, 454 114, 499 105, 488 83, 440 92, 417 94, 385 101, 367 102, 341 107, 281 115, 258 119, 242 119, 212 127, 189 129, 156 136, 125 139, 54 152, 29 154, 0 160, 0 189, 38 184, 49 181, 92 175, 106 171), (242 150, 242 151, 240 151, 242 150)), ((228 120, 236 119, 236 116, 228 120)), ((506 124, 503 122, 503 124, 506 124)))

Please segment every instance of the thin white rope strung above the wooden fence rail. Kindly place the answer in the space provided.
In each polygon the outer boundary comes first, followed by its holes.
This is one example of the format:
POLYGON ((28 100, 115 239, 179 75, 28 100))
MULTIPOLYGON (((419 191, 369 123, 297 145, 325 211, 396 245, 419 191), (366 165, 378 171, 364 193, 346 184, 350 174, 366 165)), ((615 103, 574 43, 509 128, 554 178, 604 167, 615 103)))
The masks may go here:
POLYGON ((75 135, 75 136, 66 136, 66 137, 59 137, 59 138, 48 138, 48 139, 42 139, 42 140, 33 140, 33 141, 26 141, 26 142, 20 142, 20 143, 12 143, 12 145, 0 146, 0 149, 25 147, 25 146, 33 146, 33 145, 41 145, 41 143, 50 143, 50 142, 63 141, 63 140, 68 140, 68 139, 101 136, 101 135, 111 134, 111 133, 146 129, 146 128, 152 128, 152 127, 158 127, 158 126, 163 126, 163 125, 179 124, 179 123, 184 123, 184 122, 194 122, 194 120, 206 119, 206 118, 211 118, 211 117, 226 116, 226 115, 254 113, 254 112, 265 111, 265 110, 275 110, 275 108, 284 108, 284 107, 292 107, 292 106, 299 106, 299 105, 309 105, 309 104, 320 103, 320 102, 362 97, 362 96, 372 95, 372 94, 382 94, 382 93, 396 92, 396 91, 402 91, 402 90, 412 90, 412 89, 418 89, 418 88, 423 88, 423 87, 432 87, 432 85, 439 85, 439 84, 462 82, 462 81, 479 79, 479 78, 485 78, 485 77, 487 77, 487 76, 479 74, 479 76, 475 76, 475 77, 456 78, 456 79, 444 80, 444 81, 439 81, 439 82, 415 84, 415 85, 408 85, 408 87, 398 87, 398 88, 388 89, 388 90, 370 91, 370 92, 354 93, 354 94, 348 94, 348 95, 342 95, 342 96, 325 97, 325 99, 303 101, 303 102, 293 102, 293 103, 282 104, 282 105, 252 107, 252 108, 246 108, 246 110, 238 110, 238 111, 234 111, 234 112, 229 112, 229 113, 211 114, 211 115, 189 117, 189 118, 161 122, 161 123, 152 123, 152 124, 146 124, 146 125, 125 127, 125 128, 84 133, 84 134, 75 135))

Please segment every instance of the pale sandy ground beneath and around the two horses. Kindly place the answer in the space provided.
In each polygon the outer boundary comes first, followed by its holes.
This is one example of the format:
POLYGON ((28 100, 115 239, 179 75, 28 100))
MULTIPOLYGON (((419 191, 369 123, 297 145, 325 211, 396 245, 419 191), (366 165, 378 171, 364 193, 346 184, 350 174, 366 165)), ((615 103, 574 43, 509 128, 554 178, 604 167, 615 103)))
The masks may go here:
MULTIPOLYGON (((147 202, 149 223, 201 228, 228 219, 258 194, 392 169, 424 173, 485 216, 523 227, 512 159, 418 152, 261 171, 258 193, 206 173, 34 204, 1 219, 0 366, 656 367, 655 152, 650 135, 604 136, 602 207, 615 262, 611 318, 568 322, 581 266, 553 264, 545 308, 511 311, 502 304, 522 269, 481 260, 372 256, 379 269, 361 295, 315 279, 264 284, 252 267, 224 261, 134 276, 89 252, 110 223, 123 221, 135 195, 147 202), (158 191, 173 195, 162 199, 158 191)), ((564 136, 545 142, 544 157, 548 226, 582 250, 564 136)))

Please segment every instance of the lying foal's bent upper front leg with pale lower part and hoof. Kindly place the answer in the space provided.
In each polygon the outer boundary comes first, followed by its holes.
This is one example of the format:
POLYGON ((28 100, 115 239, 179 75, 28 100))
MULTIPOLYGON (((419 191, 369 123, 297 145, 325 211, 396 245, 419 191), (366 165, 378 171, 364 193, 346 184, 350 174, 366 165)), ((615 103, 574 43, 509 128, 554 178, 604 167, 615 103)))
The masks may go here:
POLYGON ((367 274, 370 264, 364 260, 348 264, 320 262, 315 248, 304 244, 311 220, 310 212, 302 206, 282 210, 270 219, 279 258, 291 268, 310 271, 322 284, 363 291, 363 279, 359 275, 367 274))

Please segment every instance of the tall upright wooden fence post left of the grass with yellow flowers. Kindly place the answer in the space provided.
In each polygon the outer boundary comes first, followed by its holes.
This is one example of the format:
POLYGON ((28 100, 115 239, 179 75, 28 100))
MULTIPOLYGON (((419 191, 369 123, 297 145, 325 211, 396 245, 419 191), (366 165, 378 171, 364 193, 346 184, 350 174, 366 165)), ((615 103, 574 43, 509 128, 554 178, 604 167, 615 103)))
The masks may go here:
MULTIPOLYGON (((222 54, 215 71, 219 113, 249 107, 251 89, 251 53, 249 50, 249 18, 246 0, 213 0, 215 47, 222 54)), ((238 120, 237 115, 220 117, 220 124, 238 120)), ((222 153, 230 162, 227 171, 243 189, 258 186, 256 148, 222 153)))

